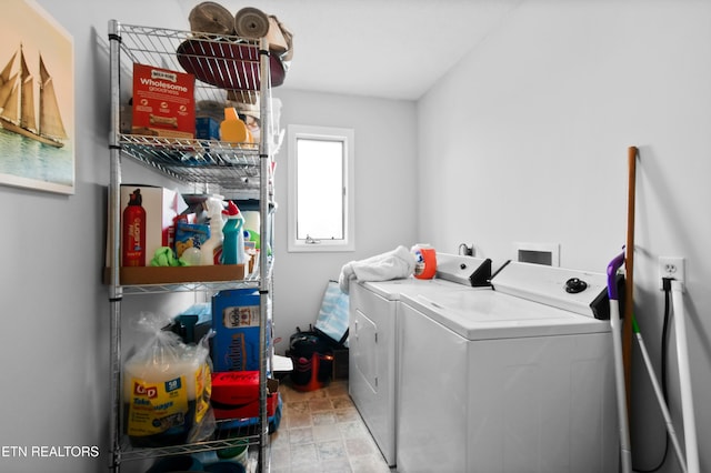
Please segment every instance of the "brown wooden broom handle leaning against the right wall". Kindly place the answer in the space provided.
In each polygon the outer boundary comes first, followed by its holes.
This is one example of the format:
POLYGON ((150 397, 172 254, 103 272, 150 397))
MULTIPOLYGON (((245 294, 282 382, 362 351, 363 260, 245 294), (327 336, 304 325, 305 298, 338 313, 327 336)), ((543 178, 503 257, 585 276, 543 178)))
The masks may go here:
MULTIPOLYGON (((634 194, 637 182, 637 147, 628 149, 628 197, 627 197, 627 255, 624 259, 624 319, 622 320, 622 359, 624 360, 624 385, 627 386, 627 405, 631 405, 632 392, 632 311, 634 309, 634 194)), ((629 416, 629 409, 628 409, 629 416)))

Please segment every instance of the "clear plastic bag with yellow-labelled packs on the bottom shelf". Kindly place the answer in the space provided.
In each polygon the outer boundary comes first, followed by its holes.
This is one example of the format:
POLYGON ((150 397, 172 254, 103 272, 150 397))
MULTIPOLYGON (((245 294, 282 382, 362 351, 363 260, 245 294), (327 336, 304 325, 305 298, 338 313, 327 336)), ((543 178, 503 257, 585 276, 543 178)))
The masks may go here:
POLYGON ((211 333, 197 345, 187 345, 162 330, 164 322, 141 315, 139 329, 152 336, 123 365, 123 427, 133 446, 197 442, 214 431, 211 333))

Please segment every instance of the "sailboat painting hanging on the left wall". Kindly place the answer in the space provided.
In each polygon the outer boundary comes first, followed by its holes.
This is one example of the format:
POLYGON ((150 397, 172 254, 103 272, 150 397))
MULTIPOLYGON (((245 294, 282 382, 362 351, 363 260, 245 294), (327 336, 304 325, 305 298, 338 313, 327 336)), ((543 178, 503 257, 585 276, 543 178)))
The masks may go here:
POLYGON ((0 183, 74 193, 74 46, 33 0, 2 0, 0 183))

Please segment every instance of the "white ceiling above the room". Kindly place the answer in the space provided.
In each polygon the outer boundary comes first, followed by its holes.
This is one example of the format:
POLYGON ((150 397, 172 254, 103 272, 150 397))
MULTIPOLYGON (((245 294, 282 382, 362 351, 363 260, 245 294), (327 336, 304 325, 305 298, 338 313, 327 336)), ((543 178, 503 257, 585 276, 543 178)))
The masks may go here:
MULTIPOLYGON (((199 0, 176 0, 187 29, 199 0)), ((282 87, 417 100, 523 0, 217 0, 254 7, 293 32, 282 87)))

